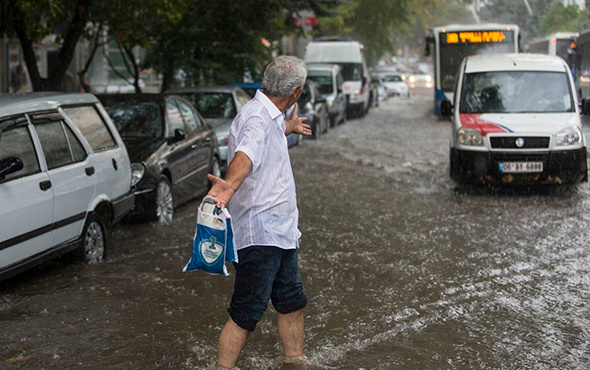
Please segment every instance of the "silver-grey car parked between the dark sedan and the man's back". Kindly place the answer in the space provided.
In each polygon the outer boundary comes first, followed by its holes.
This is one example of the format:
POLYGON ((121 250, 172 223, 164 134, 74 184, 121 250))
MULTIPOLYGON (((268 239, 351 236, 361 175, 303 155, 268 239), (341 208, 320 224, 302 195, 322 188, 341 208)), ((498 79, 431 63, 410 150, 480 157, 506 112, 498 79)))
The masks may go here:
POLYGON ((167 93, 189 100, 207 123, 215 129, 222 172, 227 167, 229 128, 240 109, 250 100, 244 90, 235 86, 186 87, 167 93))

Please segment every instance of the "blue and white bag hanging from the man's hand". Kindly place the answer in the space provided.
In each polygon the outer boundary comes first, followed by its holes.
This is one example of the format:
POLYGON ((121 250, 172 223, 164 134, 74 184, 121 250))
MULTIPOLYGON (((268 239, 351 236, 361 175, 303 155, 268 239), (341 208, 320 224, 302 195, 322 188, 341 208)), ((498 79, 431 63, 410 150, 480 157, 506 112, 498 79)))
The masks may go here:
POLYGON ((197 209, 192 255, 182 271, 202 270, 228 276, 225 261, 238 262, 231 216, 226 208, 217 207, 213 198, 206 196, 197 209))

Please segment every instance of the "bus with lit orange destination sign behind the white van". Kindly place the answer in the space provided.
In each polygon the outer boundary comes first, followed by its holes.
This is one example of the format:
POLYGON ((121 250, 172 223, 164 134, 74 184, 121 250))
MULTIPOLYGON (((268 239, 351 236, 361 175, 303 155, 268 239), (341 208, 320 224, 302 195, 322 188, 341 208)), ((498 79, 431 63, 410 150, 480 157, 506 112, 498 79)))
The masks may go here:
POLYGON ((434 112, 440 103, 453 100, 457 69, 464 57, 474 54, 518 53, 519 27, 514 24, 472 24, 435 27, 426 38, 426 54, 434 49, 434 112))

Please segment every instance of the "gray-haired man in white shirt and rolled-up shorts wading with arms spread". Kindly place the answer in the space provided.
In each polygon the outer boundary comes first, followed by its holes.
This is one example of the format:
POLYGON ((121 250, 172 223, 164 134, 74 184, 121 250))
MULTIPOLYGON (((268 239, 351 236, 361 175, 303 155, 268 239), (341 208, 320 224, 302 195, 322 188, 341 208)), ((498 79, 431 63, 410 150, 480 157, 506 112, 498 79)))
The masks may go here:
POLYGON ((280 56, 264 71, 263 90, 233 120, 225 180, 208 175, 215 203, 232 215, 239 263, 228 318, 219 337, 217 368, 236 366, 268 301, 277 311, 285 363, 303 363, 303 308, 307 297, 297 265, 301 232, 295 180, 286 135, 311 135, 297 117, 283 113, 299 97, 307 70, 303 60, 280 56))

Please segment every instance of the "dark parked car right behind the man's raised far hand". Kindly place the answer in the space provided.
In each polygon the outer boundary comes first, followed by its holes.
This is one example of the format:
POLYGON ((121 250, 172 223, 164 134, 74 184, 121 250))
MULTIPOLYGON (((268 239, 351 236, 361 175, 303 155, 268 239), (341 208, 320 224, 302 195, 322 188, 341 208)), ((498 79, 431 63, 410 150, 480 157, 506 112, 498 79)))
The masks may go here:
POLYGON ((330 112, 326 98, 320 94, 315 82, 309 79, 305 82, 297 104, 299 115, 307 117, 305 123, 311 126, 312 139, 319 139, 330 130, 330 112))

